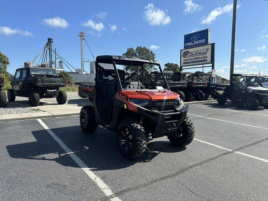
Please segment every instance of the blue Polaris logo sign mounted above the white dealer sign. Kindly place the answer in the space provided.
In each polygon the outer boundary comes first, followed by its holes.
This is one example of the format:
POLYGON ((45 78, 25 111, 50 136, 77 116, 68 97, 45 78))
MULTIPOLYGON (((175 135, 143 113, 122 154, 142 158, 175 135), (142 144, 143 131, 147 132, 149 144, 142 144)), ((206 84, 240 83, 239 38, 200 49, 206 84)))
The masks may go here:
POLYGON ((184 35, 184 49, 210 43, 210 29, 184 35))

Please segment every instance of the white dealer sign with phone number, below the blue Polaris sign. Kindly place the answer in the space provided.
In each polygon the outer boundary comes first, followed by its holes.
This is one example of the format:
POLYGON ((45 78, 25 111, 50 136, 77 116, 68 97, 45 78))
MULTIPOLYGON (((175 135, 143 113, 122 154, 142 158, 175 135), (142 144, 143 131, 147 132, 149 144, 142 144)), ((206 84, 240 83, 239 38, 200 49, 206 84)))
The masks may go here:
POLYGON ((214 63, 215 43, 180 50, 180 66, 214 63))

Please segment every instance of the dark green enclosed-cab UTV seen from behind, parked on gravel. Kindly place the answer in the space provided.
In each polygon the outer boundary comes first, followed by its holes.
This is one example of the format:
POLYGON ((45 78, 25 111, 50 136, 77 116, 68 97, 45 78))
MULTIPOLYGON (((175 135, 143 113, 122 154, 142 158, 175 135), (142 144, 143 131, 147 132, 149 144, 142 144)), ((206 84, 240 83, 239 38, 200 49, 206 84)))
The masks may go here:
POLYGON ((52 68, 19 68, 10 84, 12 89, 7 91, 9 102, 14 102, 16 96, 28 97, 29 104, 35 107, 39 105, 41 98, 56 97, 59 104, 64 104, 67 100, 66 92, 59 89, 66 85, 66 80, 58 78, 52 68))

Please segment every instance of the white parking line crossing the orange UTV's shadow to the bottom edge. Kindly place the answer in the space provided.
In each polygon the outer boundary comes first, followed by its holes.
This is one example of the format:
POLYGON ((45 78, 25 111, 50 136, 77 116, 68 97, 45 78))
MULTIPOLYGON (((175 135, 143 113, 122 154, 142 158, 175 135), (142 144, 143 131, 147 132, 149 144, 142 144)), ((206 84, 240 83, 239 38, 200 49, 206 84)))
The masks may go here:
POLYGON ((37 119, 37 121, 43 126, 44 129, 54 138, 54 140, 60 145, 60 147, 80 166, 82 170, 91 178, 92 181, 104 192, 104 194, 111 200, 111 201, 121 201, 119 197, 116 197, 112 190, 94 173, 92 172, 91 168, 86 166, 86 164, 81 161, 74 152, 69 149, 60 138, 57 137, 50 129, 46 126, 46 124, 41 120, 37 119))

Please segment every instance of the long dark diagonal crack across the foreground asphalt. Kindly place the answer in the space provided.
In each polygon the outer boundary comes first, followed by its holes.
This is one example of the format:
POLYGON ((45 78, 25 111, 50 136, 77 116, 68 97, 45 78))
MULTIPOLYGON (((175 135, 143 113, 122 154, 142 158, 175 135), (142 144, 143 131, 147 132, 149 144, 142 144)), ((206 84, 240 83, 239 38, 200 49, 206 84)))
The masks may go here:
POLYGON ((127 193, 127 192, 135 191, 135 190, 138 190, 138 189, 140 189, 140 188, 144 188, 144 187, 150 186, 150 185, 152 185, 152 184, 154 184, 154 183, 157 183, 157 182, 160 182, 160 181, 163 181, 163 180, 172 178, 172 177, 174 177, 174 176, 177 176, 177 175, 179 175, 179 174, 182 174, 182 173, 184 173, 184 172, 187 172, 188 170, 191 170, 191 169, 193 169, 193 168, 195 168, 195 167, 204 165, 204 164, 206 164, 206 163, 209 163, 209 162, 211 162, 211 161, 214 161, 214 160, 216 160, 216 159, 218 159, 218 158, 221 158, 221 157, 223 157, 223 156, 232 154, 232 153, 234 153, 234 152, 240 151, 241 149, 244 149, 244 148, 247 148, 247 147, 250 147, 250 146, 259 144, 259 143, 264 142, 264 141, 267 141, 267 140, 268 140, 268 137, 267 137, 267 138, 264 138, 264 139, 262 139, 262 140, 253 142, 253 143, 251 143, 251 144, 247 144, 247 145, 241 146, 241 147, 239 147, 239 148, 237 148, 237 149, 234 149, 234 150, 232 150, 232 151, 224 152, 224 153, 222 153, 222 154, 216 155, 216 156, 214 156, 214 157, 212 157, 212 158, 208 158, 208 159, 206 159, 206 160, 204 160, 204 161, 201 161, 201 162, 199 162, 199 163, 195 163, 195 164, 193 164, 193 165, 187 166, 187 167, 185 167, 185 168, 183 168, 183 169, 180 169, 179 171, 174 172, 174 173, 172 173, 172 174, 169 174, 169 175, 166 175, 166 176, 163 176, 163 177, 156 178, 156 179, 154 179, 154 180, 148 181, 148 182, 143 183, 143 184, 140 184, 140 185, 138 185, 138 186, 133 186, 133 187, 126 188, 126 189, 124 189, 124 190, 122 190, 122 191, 119 191, 119 192, 115 193, 115 195, 116 195, 116 196, 120 196, 120 195, 123 195, 123 194, 125 194, 125 193, 127 193))

